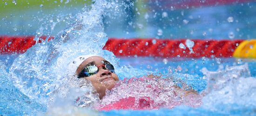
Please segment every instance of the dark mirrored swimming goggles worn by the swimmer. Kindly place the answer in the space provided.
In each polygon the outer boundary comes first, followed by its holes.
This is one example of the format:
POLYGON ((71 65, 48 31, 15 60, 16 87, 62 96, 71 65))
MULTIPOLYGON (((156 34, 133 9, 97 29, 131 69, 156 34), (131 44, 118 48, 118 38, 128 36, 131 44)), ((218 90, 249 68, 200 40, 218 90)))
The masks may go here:
POLYGON ((82 78, 82 77, 88 77, 88 76, 91 76, 91 75, 94 75, 96 73, 98 73, 99 71, 99 67, 102 67, 103 69, 105 70, 108 70, 110 71, 111 73, 115 73, 115 68, 112 64, 110 63, 107 63, 107 64, 102 64, 102 65, 99 65, 98 67, 93 65, 93 66, 88 66, 88 67, 85 67, 81 73, 79 73, 78 77, 77 78, 82 78))

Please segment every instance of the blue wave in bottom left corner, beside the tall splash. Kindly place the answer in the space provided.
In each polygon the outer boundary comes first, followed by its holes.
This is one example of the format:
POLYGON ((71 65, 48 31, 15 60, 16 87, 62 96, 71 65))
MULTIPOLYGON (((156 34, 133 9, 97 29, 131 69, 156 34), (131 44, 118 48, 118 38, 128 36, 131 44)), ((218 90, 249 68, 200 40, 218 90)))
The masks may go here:
POLYGON ((1 115, 33 115, 37 111, 46 111, 46 107, 28 98, 15 87, 6 67, 0 61, 0 113, 1 115))

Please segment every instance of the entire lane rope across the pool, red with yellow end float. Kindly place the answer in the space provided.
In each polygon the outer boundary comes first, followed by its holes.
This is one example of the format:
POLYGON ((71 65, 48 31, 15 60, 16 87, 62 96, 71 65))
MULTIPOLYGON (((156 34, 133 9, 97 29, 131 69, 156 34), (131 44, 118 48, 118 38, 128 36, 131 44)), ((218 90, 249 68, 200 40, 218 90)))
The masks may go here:
MULTIPOLYGON (((53 39, 54 37, 49 37, 53 39)), ((46 40, 40 37, 38 43, 46 40)), ((103 49, 116 56, 153 56, 153 57, 243 57, 256 58, 256 40, 191 40, 194 53, 189 48, 181 49, 179 44, 186 45, 186 39, 117 39, 109 38, 103 49), (240 45, 241 43, 241 45, 240 45), (239 45, 239 46, 238 46, 239 45)), ((0 36, 0 54, 22 54, 32 47, 34 36, 8 37, 0 36)))

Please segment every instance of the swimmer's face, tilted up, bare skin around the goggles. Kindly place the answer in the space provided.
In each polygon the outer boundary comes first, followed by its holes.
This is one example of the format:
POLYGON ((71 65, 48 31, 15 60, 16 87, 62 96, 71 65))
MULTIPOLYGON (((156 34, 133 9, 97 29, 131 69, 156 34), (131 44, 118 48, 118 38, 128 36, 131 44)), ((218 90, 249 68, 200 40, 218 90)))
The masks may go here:
MULTIPOLYGON (((104 65, 103 61, 106 60, 100 56, 89 57, 79 65, 76 70, 76 75, 81 73, 81 71, 89 65, 95 65, 97 67, 104 65)), ((85 77, 85 79, 91 81, 97 93, 99 93, 100 99, 105 96, 106 89, 111 90, 115 86, 115 82, 119 80, 115 73, 103 69, 102 66, 98 68, 98 72, 96 74, 85 77)))

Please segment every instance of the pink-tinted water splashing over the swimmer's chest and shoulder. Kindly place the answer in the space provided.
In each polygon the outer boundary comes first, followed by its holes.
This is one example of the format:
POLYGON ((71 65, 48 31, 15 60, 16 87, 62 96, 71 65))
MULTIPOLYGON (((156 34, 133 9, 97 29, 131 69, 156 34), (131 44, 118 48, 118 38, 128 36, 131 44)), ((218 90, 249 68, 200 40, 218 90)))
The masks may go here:
POLYGON ((135 107, 140 105, 141 98, 150 99, 153 102, 148 109, 173 108, 178 105, 200 106, 202 97, 199 94, 191 91, 186 84, 183 84, 182 88, 176 85, 182 84, 182 81, 153 75, 152 77, 154 78, 143 77, 119 81, 112 90, 106 92, 99 109, 129 97, 135 98, 135 107))

